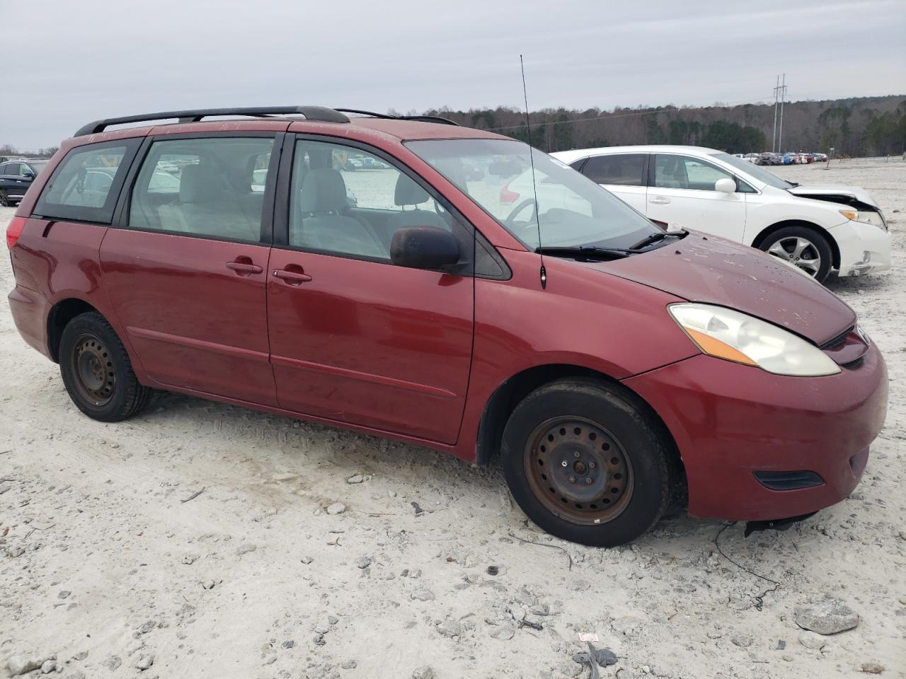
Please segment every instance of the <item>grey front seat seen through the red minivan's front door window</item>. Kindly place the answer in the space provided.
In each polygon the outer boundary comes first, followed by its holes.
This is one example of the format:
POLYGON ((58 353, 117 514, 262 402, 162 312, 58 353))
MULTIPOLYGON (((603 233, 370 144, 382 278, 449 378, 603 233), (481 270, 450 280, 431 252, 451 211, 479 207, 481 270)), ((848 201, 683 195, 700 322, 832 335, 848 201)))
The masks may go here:
POLYGON ((312 168, 299 189, 299 208, 290 224, 290 244, 313 250, 379 257, 390 252, 370 225, 342 215, 346 183, 335 169, 312 168))

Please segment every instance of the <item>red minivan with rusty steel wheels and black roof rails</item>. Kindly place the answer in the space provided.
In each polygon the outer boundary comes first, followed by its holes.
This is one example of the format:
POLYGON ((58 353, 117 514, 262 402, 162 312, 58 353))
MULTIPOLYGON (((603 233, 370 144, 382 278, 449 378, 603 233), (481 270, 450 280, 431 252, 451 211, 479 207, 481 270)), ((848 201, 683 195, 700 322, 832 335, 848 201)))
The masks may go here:
POLYGON ((499 455, 525 513, 589 545, 678 490, 737 521, 853 490, 887 375, 834 294, 514 139, 347 113, 171 111, 63 142, 7 229, 9 302, 83 413, 166 389, 499 455))

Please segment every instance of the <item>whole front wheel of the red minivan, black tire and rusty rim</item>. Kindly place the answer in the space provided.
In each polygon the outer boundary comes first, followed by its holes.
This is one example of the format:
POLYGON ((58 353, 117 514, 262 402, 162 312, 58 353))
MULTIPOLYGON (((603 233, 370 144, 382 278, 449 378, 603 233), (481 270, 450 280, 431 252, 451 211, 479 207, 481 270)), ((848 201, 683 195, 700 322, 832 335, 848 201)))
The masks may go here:
POLYGON ((516 406, 501 464, 510 492, 538 526, 564 540, 614 547, 651 530, 666 510, 670 445, 629 390, 563 379, 516 406))

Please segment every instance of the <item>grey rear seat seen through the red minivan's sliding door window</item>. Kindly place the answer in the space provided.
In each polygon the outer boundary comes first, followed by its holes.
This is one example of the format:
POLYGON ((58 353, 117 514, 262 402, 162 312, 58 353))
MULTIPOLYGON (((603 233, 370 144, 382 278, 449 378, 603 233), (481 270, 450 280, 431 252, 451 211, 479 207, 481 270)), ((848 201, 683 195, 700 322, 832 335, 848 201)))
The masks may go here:
POLYGON ((217 167, 198 163, 182 168, 179 202, 159 206, 160 226, 167 231, 257 241, 261 225, 240 209, 217 167))

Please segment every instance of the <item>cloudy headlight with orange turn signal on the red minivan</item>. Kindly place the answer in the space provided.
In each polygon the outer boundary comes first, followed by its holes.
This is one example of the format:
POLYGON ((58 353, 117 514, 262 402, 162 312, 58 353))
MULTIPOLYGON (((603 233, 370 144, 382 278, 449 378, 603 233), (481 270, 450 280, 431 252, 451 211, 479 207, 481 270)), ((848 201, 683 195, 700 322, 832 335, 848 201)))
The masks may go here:
POLYGON ((840 372, 814 344, 765 320, 710 304, 670 304, 667 309, 708 356, 757 366, 776 375, 814 378, 840 372))

